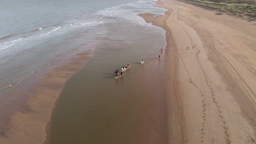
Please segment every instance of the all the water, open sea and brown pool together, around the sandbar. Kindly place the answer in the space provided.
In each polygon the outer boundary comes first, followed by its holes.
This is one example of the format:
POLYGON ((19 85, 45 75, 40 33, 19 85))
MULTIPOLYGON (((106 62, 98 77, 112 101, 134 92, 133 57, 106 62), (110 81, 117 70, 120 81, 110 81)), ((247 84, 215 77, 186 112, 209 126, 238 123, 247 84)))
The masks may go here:
POLYGON ((11 111, 25 104, 22 97, 33 91, 42 71, 91 50, 92 59, 68 80, 57 100, 50 143, 167 143, 165 70, 163 58, 158 59, 165 31, 137 16, 164 13, 152 4, 3 2, 0 108, 6 111, 0 111, 0 130, 11 111), (114 70, 126 63, 132 68, 114 79, 114 70))

